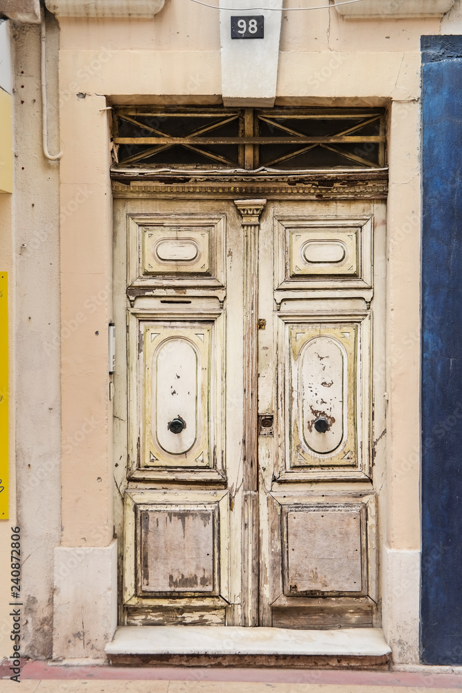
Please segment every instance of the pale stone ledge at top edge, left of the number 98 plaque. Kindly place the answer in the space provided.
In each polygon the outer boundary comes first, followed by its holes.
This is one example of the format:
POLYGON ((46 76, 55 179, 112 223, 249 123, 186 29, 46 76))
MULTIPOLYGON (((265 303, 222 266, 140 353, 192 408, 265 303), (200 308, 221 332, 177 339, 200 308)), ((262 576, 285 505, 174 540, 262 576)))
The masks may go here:
POLYGON ((150 19, 165 0, 45 0, 56 17, 135 17, 150 19))

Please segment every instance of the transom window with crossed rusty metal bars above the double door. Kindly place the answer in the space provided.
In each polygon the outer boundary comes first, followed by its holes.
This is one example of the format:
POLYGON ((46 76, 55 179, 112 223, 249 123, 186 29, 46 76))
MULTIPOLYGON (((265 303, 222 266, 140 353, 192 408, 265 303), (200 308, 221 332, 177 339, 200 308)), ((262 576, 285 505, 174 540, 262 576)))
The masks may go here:
POLYGON ((357 169, 386 165, 384 109, 114 109, 117 168, 357 169))

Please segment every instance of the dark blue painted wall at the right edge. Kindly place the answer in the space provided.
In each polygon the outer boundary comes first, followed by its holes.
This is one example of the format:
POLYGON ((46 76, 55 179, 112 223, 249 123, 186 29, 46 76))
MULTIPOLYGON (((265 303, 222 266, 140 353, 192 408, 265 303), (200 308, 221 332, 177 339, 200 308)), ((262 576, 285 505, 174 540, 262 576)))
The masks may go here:
POLYGON ((462 664, 462 36, 423 36, 421 658, 462 664))

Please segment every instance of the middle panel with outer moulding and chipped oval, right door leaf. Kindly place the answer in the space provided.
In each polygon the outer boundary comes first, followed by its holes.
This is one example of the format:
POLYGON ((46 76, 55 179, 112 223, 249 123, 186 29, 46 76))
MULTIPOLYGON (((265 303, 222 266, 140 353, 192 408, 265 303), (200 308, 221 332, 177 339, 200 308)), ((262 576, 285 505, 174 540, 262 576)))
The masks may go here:
POLYGON ((279 421, 286 422, 280 480, 320 470, 326 477, 338 470, 368 473, 370 317, 330 319, 278 320, 279 421))

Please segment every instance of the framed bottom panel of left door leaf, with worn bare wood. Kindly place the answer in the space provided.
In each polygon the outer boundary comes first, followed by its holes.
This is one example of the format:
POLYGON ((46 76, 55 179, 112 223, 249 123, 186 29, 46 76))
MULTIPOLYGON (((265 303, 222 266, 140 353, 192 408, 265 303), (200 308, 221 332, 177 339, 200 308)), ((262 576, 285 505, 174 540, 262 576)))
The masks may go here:
POLYGON ((127 491, 124 602, 130 622, 224 624, 228 546, 227 491, 127 491))

